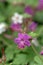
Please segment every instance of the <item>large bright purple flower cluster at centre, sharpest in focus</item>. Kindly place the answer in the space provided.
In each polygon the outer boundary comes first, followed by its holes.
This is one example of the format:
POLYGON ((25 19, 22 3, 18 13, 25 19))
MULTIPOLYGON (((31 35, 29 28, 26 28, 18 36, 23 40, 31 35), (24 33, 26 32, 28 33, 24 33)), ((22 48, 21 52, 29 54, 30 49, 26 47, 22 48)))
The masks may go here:
POLYGON ((18 38, 14 39, 14 42, 18 44, 19 48, 24 48, 25 46, 30 46, 30 39, 31 36, 27 35, 26 33, 19 33, 18 38))

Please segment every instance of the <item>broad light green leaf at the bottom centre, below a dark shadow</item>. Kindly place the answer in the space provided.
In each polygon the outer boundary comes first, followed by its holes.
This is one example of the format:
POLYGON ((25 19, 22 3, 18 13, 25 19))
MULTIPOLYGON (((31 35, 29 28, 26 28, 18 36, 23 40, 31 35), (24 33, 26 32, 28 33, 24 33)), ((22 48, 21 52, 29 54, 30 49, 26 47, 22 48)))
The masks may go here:
POLYGON ((13 61, 13 64, 22 64, 25 65, 27 63, 27 55, 25 54, 18 54, 13 61))

